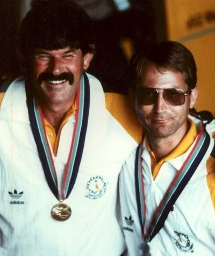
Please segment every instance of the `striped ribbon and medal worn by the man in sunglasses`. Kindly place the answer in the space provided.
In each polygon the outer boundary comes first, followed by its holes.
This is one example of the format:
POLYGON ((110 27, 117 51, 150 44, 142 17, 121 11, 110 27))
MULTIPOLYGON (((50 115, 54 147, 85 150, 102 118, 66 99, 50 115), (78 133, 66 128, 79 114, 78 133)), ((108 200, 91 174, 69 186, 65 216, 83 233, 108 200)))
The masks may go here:
POLYGON ((202 161, 202 158, 204 157, 209 147, 209 144, 210 135, 206 132, 204 125, 202 124, 202 128, 197 136, 194 147, 192 148, 187 159, 182 164, 181 169, 177 172, 173 181, 170 183, 165 195, 163 196, 163 199, 156 208, 153 218, 150 222, 147 234, 145 228, 147 206, 144 189, 144 169, 142 168, 141 161, 143 143, 138 146, 135 156, 135 188, 138 205, 138 215, 142 230, 142 239, 144 241, 139 247, 140 255, 151 255, 149 252, 148 243, 162 229, 170 210, 172 209, 177 198, 180 196, 181 192, 189 182, 195 170, 198 168, 198 165, 202 161))

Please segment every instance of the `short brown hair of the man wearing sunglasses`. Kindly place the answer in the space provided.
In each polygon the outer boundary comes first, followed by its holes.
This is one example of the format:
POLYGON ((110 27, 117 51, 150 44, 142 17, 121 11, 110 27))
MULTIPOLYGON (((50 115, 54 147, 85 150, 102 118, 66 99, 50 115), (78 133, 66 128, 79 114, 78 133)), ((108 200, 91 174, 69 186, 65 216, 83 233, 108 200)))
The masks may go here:
POLYGON ((131 59, 131 74, 134 85, 141 77, 142 68, 148 62, 157 65, 161 70, 174 70, 184 73, 184 79, 189 89, 194 89, 197 83, 197 67, 192 53, 177 41, 163 41, 150 46, 148 51, 139 52, 131 59))

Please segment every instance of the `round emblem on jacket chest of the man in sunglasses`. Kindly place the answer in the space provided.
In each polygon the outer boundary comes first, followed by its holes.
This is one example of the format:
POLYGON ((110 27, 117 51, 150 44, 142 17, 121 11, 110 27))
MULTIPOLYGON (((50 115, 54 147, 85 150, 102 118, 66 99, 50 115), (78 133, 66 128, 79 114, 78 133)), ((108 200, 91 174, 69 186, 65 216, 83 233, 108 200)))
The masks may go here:
POLYGON ((175 237, 175 245, 179 248, 182 252, 191 252, 194 253, 194 244, 191 244, 191 241, 187 234, 183 234, 181 232, 174 231, 176 234, 175 237))

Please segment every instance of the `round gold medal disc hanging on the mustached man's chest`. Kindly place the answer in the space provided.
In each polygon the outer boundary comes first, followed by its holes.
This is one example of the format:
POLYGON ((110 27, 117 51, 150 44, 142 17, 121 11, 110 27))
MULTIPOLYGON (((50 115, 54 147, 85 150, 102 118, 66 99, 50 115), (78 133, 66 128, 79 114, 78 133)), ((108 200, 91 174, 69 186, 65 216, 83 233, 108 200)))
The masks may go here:
POLYGON ((64 203, 55 204, 52 208, 52 218, 60 221, 67 220, 71 216, 71 208, 64 203))

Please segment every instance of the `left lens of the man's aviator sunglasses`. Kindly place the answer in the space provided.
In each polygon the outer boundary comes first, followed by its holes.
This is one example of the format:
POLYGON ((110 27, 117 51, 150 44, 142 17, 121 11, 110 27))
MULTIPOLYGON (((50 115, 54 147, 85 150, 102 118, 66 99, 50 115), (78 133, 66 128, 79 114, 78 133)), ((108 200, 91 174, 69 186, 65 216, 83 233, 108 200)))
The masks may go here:
POLYGON ((138 103, 141 105, 152 105, 156 101, 157 92, 155 89, 142 89, 137 93, 138 103))

